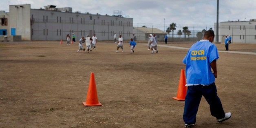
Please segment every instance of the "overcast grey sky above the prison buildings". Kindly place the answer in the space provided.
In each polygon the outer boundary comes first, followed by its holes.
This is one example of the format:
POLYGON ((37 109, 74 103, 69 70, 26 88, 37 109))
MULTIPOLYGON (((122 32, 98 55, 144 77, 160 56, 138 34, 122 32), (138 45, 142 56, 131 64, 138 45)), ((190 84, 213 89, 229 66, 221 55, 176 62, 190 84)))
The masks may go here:
MULTIPOLYGON (((9 4, 31 4, 32 9, 47 5, 72 7, 73 12, 113 15, 114 10, 137 23, 206 24, 216 22, 217 0, 0 0, 0 10, 9 4), (165 20, 164 20, 165 19, 165 20)), ((219 0, 219 22, 256 19, 256 0, 219 0)))

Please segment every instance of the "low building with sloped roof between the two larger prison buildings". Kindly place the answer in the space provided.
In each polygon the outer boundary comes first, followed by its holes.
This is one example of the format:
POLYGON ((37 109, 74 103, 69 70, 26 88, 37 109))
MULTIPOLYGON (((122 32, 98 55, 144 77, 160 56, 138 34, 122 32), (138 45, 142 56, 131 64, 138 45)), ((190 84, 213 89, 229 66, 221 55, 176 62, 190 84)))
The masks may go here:
POLYGON ((133 33, 137 40, 148 40, 149 34, 156 34, 157 41, 164 41, 165 32, 157 28, 133 27, 133 33))

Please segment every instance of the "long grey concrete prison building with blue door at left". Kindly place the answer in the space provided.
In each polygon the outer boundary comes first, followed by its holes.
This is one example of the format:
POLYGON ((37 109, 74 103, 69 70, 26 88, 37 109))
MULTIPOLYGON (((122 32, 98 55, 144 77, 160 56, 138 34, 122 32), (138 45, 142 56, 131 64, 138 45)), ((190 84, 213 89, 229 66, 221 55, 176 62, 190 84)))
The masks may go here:
POLYGON ((122 15, 100 15, 72 13, 71 7, 56 8, 55 5, 44 9, 31 9, 30 4, 10 5, 9 28, 22 40, 66 40, 66 35, 75 33, 76 40, 82 36, 96 34, 98 40, 113 40, 114 33, 129 40, 132 35, 132 18, 122 15))

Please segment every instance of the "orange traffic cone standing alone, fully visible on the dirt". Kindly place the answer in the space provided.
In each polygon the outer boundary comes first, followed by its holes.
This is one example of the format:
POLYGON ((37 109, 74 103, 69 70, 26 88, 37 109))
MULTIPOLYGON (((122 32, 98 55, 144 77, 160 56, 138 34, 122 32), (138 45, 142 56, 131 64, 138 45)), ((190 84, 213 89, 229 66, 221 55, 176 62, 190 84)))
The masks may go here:
POLYGON ((86 101, 83 102, 84 106, 102 106, 98 101, 97 89, 94 79, 94 73, 90 73, 90 82, 88 86, 86 101))

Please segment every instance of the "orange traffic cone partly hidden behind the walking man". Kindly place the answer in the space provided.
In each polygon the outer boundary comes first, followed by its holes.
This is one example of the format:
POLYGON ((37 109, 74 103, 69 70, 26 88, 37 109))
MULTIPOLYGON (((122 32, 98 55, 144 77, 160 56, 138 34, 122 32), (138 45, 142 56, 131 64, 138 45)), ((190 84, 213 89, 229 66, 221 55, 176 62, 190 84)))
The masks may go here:
POLYGON ((184 73, 184 69, 181 69, 181 76, 179 78, 179 87, 178 87, 177 97, 172 97, 173 99, 185 100, 185 97, 187 94, 187 87, 185 85, 186 85, 185 73, 184 73))

